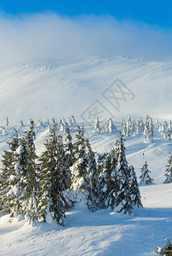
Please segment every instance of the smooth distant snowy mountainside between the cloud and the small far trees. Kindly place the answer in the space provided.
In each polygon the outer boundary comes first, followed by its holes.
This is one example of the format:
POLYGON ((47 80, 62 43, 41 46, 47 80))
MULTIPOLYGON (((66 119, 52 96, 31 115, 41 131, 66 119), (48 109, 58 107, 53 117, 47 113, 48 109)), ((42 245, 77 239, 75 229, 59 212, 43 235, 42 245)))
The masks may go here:
MULTIPOLYGON (((171 119, 171 71, 172 62, 148 62, 123 56, 80 56, 3 67, 0 124, 3 125, 7 116, 15 124, 19 119, 72 114, 82 120, 84 111, 96 100, 106 107, 105 116, 112 113, 120 119, 128 113, 135 116, 149 113, 152 117, 171 119), (116 95, 121 100, 111 98, 111 103, 102 94, 116 79, 130 91, 125 88, 128 94, 116 95)), ((117 85, 113 90, 118 90, 117 85)), ((101 110, 99 103, 96 107, 101 110)))

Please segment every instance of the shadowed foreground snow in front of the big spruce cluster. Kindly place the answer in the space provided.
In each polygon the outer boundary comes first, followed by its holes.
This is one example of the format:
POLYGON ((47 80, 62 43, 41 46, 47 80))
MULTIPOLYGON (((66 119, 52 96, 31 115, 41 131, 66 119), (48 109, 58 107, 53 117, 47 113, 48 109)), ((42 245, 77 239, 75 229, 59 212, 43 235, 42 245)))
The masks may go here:
POLYGON ((66 227, 27 226, 24 220, 8 224, 0 218, 0 255, 158 255, 164 238, 172 238, 172 186, 140 188, 145 208, 125 216, 110 210, 89 212, 77 207, 67 212, 66 227))

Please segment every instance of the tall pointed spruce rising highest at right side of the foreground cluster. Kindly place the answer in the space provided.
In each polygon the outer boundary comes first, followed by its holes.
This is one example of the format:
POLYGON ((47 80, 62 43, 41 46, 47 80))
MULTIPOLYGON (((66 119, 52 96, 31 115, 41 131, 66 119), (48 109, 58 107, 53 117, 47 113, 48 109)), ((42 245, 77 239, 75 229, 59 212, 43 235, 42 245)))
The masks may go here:
POLYGON ((120 133, 116 141, 117 155, 117 186, 116 207, 118 212, 132 213, 132 201, 129 188, 129 166, 125 157, 123 134, 120 133))

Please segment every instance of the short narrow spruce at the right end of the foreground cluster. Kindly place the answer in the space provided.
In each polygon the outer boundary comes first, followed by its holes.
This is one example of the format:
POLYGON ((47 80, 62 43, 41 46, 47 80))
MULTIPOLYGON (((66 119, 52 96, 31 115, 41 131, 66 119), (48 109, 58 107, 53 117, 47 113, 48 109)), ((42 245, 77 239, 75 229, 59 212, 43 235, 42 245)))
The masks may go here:
POLYGON ((143 207, 134 166, 129 166, 129 190, 133 207, 143 207))

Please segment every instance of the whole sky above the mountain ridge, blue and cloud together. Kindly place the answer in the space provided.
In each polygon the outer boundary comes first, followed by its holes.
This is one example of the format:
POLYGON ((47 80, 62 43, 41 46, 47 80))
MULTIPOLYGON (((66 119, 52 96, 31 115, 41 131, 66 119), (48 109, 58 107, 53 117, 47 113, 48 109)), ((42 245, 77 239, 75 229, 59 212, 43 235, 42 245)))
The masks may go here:
POLYGON ((0 0, 0 65, 74 55, 172 61, 171 9, 171 0, 0 0))

